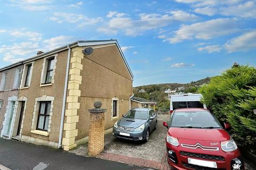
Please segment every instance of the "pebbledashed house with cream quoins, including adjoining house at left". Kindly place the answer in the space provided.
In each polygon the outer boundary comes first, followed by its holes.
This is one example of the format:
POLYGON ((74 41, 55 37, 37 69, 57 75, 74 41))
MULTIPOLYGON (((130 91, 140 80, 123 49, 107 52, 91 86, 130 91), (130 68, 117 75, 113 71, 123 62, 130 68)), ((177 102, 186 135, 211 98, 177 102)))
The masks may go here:
POLYGON ((70 150, 88 140, 94 101, 107 108, 105 129, 131 105, 133 75, 116 40, 39 54, 0 69, 0 81, 1 137, 35 145, 70 150))

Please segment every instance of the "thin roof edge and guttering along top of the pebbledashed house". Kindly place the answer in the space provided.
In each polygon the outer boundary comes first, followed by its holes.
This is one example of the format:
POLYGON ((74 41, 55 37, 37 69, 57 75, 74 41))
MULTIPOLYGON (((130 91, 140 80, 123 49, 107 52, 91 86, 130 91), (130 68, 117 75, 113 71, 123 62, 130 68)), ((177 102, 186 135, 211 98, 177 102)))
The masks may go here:
POLYGON ((1 68, 0 71, 4 71, 4 70, 7 70, 7 69, 10 69, 11 67, 14 67, 14 66, 17 66, 17 65, 20 65, 20 64, 23 64, 23 63, 27 63, 27 62, 30 62, 30 61, 34 61, 34 60, 37 60, 39 58, 42 58, 42 57, 45 57, 45 56, 48 56, 48 55, 52 55, 54 53, 61 52, 63 50, 68 49, 68 47, 73 48, 73 47, 76 47, 76 46, 82 47, 82 46, 93 46, 93 45, 104 45, 104 44, 116 44, 116 46, 117 46, 117 48, 119 50, 119 53, 120 53, 120 55, 121 55, 121 57, 123 59, 123 62, 125 64, 125 66, 126 66, 126 69, 130 73, 131 77, 133 78, 132 71, 131 71, 127 61, 125 60, 124 54, 123 54, 123 52, 121 50, 121 47, 119 46, 119 44, 118 44, 116 39, 109 39, 109 40, 87 40, 87 41, 78 40, 78 41, 75 41, 74 43, 67 44, 66 46, 62 46, 62 47, 53 49, 50 52, 42 53, 42 54, 36 55, 34 57, 30 57, 30 58, 28 58, 26 60, 23 60, 23 61, 11 64, 11 65, 5 66, 5 67, 1 68))

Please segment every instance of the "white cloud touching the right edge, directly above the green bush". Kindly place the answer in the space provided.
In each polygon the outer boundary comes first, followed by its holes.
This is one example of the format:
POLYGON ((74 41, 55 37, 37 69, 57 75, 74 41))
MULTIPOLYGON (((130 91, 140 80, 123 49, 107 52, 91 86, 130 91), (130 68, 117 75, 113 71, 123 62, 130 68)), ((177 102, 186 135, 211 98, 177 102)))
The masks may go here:
POLYGON ((224 48, 229 52, 237 52, 256 49, 256 30, 246 32, 241 36, 233 38, 224 45, 224 48))

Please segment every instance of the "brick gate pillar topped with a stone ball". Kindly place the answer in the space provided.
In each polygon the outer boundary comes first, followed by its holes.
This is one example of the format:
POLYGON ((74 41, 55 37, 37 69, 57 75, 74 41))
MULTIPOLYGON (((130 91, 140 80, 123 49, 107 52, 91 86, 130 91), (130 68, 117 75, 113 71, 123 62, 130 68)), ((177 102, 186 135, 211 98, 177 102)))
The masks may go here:
POLYGON ((107 109, 100 108, 101 101, 95 101, 94 107, 89 109, 90 126, 89 126, 89 142, 88 155, 99 155, 104 149, 104 130, 105 130, 105 112, 107 109))

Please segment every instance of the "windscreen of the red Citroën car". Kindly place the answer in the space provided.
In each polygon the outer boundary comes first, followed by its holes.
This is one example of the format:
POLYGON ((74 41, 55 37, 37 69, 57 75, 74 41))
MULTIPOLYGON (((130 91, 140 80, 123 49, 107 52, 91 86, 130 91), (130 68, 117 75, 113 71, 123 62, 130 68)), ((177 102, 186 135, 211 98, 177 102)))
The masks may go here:
POLYGON ((207 111, 179 111, 171 117, 173 128, 221 128, 216 118, 207 111))

